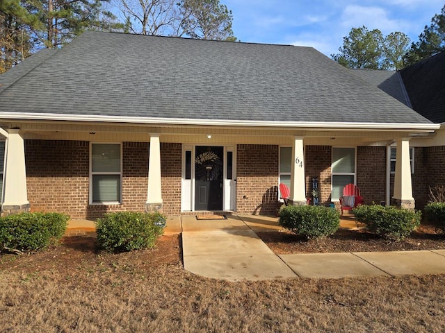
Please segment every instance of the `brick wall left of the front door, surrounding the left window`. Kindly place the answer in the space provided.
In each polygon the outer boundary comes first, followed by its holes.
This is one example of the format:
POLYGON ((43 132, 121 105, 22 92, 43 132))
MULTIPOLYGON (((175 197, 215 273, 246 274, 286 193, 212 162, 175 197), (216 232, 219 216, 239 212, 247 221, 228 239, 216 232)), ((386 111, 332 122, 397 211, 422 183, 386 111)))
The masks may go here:
MULTIPOLYGON (((26 140, 26 185, 31 211, 94 219, 106 212, 143 212, 147 201, 148 143, 122 143, 122 204, 89 205, 89 142, 26 140)), ((166 214, 181 209, 181 144, 161 144, 166 214)))

